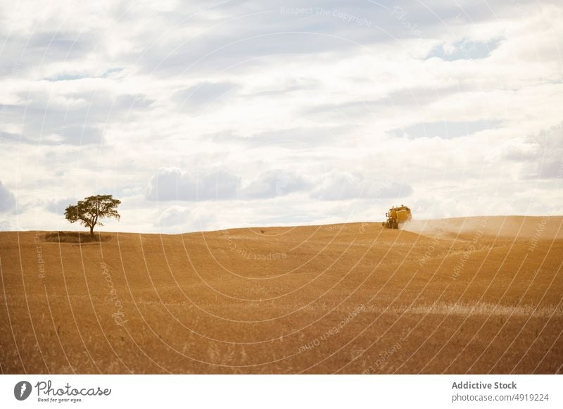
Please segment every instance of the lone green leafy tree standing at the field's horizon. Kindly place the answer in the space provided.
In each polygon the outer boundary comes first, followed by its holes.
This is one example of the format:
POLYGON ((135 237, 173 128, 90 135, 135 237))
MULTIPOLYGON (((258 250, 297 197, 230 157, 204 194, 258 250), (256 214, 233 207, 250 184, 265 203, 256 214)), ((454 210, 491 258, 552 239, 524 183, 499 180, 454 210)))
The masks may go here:
POLYGON ((90 237, 94 237, 94 226, 103 226, 99 220, 102 218, 120 219, 118 206, 121 201, 113 199, 110 194, 99 194, 89 196, 84 200, 78 201, 76 205, 68 205, 65 209, 65 218, 71 223, 80 222, 90 228, 90 237))

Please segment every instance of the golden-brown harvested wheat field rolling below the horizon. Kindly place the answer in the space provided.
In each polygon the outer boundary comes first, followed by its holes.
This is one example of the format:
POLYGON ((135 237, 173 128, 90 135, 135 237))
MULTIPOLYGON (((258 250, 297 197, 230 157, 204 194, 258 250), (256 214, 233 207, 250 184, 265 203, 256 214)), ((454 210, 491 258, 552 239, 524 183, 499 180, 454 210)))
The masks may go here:
POLYGON ((57 237, 0 233, 2 373, 563 371, 562 217, 57 237))

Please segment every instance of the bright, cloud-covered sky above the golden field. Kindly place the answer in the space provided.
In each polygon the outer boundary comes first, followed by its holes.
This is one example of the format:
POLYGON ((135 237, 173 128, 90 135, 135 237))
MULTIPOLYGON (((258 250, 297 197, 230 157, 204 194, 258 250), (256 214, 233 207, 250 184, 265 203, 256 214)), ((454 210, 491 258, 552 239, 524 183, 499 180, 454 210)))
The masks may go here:
POLYGON ((0 229, 563 214, 563 4, 3 1, 0 229))

